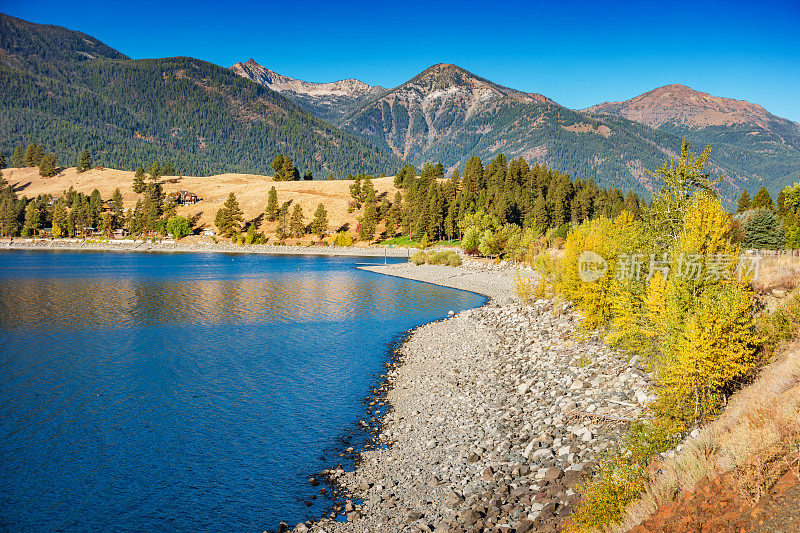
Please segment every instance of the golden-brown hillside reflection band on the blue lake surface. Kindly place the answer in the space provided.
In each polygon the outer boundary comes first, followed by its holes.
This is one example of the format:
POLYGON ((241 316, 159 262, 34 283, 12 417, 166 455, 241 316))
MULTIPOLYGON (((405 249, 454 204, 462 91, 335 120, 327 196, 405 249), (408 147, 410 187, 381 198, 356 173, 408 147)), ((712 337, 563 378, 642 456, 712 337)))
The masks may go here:
POLYGON ((168 324, 338 321, 429 308, 434 287, 394 286, 339 272, 274 281, 35 279, 0 283, 7 330, 74 330, 168 324))

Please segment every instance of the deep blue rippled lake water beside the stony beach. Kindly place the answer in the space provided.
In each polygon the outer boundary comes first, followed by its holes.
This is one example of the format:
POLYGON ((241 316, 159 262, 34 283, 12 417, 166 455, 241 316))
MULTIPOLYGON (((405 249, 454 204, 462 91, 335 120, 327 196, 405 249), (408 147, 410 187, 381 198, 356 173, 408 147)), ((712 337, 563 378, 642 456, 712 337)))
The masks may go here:
POLYGON ((0 529, 324 512, 308 478, 342 460, 391 344, 485 301, 366 261, 0 252, 0 529))

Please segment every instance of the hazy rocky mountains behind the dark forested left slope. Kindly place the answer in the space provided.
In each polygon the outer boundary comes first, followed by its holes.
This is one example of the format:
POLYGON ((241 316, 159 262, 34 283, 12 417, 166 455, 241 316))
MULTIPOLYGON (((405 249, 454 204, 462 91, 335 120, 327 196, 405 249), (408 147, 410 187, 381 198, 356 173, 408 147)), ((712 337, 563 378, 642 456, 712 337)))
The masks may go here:
POLYGON ((418 166, 435 161, 463 167, 472 155, 485 159, 503 152, 509 158, 594 176, 604 186, 643 192, 654 186, 645 169, 675 156, 685 137, 697 151, 712 145, 710 166, 723 176, 718 192, 728 205, 743 188, 763 185, 774 192, 800 178, 800 125, 757 104, 682 85, 572 110, 450 64, 434 65, 383 90, 358 80, 296 80, 253 59, 232 68, 418 166), (268 75, 254 75, 258 72, 268 75), (326 94, 345 83, 362 90, 346 96, 326 94))

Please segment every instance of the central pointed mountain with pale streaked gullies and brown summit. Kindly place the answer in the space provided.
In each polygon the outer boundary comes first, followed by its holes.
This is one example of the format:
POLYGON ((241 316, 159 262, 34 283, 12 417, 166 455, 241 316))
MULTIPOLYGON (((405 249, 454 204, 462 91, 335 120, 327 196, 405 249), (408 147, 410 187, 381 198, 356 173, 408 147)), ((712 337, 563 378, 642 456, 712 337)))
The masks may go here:
POLYGON ((426 69, 340 123, 416 165, 463 167, 472 155, 486 160, 502 152, 593 176, 603 186, 644 192, 650 182, 643 169, 660 166, 680 149, 680 139, 639 132, 641 127, 631 131, 628 124, 590 117, 449 64, 426 69))

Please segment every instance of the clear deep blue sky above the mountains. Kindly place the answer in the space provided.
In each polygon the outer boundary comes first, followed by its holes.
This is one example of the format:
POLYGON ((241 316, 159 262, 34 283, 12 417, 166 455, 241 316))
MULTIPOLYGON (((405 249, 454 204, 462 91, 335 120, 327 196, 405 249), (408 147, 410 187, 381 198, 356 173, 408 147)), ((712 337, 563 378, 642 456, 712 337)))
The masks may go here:
POLYGON ((132 58, 253 57, 309 81, 396 86, 434 63, 584 108, 669 83, 800 122, 800 0, 758 2, 64 2, 0 11, 132 58))

